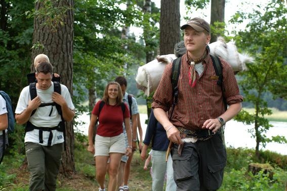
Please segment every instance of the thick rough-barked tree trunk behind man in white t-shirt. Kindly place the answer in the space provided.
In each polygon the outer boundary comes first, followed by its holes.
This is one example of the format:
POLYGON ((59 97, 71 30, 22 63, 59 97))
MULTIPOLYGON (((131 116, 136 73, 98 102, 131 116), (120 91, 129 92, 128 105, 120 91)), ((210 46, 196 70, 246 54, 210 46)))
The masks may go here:
MULTIPOLYGON (((47 17, 34 18, 33 45, 42 44, 44 48, 33 48, 31 56, 31 70, 33 68, 33 60, 38 54, 48 55, 50 62, 54 66, 54 72, 61 75, 61 84, 65 85, 72 97, 73 82, 73 0, 52 0, 53 6, 56 8, 67 7, 64 13, 63 25, 56 22, 56 30, 51 30, 50 25, 43 24, 47 21, 47 17)), ((43 8, 40 1, 35 4, 35 10, 43 8)), ((66 150, 62 154, 62 166, 60 172, 68 176, 75 172, 74 164, 74 131, 73 123, 66 123, 66 150)))

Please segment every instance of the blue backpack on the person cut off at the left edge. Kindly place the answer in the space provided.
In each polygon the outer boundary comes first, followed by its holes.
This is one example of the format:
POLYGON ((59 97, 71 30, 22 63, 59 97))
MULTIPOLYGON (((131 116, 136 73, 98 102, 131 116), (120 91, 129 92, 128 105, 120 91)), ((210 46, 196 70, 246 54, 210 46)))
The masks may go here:
MULTIPOLYGON (((8 133, 12 133, 14 131, 14 125, 15 125, 15 119, 14 119, 14 112, 12 108, 12 102, 7 93, 4 91, 0 91, 0 95, 4 98, 6 101, 6 109, 7 109, 7 117, 8 117, 8 133)), ((4 158, 4 152, 6 149, 6 133, 5 130, 3 130, 3 154, 2 158, 0 159, 0 164, 2 163, 2 160, 4 158)))

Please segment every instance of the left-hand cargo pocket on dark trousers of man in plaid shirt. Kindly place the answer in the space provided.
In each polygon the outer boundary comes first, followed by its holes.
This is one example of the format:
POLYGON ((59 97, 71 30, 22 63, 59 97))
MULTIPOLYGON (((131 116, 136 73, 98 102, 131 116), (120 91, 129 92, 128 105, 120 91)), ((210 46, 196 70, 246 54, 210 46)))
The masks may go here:
POLYGON ((193 176, 190 166, 191 154, 186 154, 184 156, 179 156, 178 154, 173 154, 173 168, 175 180, 187 180, 193 176))

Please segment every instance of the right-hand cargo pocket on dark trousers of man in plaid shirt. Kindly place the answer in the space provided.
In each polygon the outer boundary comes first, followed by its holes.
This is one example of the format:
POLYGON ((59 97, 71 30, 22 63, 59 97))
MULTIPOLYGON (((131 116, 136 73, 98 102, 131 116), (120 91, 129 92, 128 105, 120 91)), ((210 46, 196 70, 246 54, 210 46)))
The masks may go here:
POLYGON ((217 190, 221 186, 225 166, 226 162, 221 164, 208 164, 207 188, 209 190, 217 190))

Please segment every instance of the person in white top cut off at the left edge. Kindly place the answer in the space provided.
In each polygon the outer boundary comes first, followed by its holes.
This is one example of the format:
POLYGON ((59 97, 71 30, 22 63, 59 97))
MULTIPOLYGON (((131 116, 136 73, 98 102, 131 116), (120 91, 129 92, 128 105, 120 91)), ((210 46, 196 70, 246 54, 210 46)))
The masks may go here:
POLYGON ((8 144, 8 134, 7 134, 7 128, 8 128, 8 114, 7 114, 7 108, 6 108, 6 101, 0 95, 0 160, 2 159, 3 155, 3 148, 6 148, 6 145, 8 144), (3 134, 3 131, 5 131, 5 134, 3 134), (5 144, 3 142, 3 138, 6 136, 5 144))

